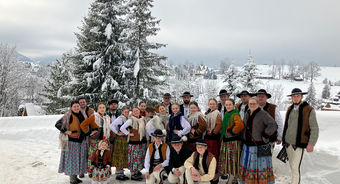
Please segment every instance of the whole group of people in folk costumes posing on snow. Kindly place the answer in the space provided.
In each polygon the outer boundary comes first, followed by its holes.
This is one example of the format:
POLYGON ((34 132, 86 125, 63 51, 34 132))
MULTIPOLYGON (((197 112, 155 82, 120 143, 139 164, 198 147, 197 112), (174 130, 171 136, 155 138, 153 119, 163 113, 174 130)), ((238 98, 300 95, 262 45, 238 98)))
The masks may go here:
MULTIPOLYGON (((220 102, 209 99, 202 113, 193 95, 184 92, 183 104, 163 101, 147 106, 141 101, 130 109, 118 109, 118 101, 89 108, 86 99, 71 103, 70 110, 56 123, 60 130, 59 173, 70 183, 88 173, 93 183, 108 183, 111 167, 116 179, 143 180, 146 183, 275 183, 273 148, 282 144, 292 171, 292 184, 300 183, 304 150, 312 152, 318 139, 315 110, 303 100, 306 94, 294 88, 292 105, 285 121, 271 95, 264 89, 237 94, 241 103, 229 98, 226 90, 220 102), (131 112, 130 112, 131 110, 131 112), (131 178, 124 174, 128 168, 131 178)), ((275 158, 275 157, 274 157, 275 158)))

